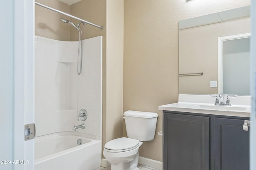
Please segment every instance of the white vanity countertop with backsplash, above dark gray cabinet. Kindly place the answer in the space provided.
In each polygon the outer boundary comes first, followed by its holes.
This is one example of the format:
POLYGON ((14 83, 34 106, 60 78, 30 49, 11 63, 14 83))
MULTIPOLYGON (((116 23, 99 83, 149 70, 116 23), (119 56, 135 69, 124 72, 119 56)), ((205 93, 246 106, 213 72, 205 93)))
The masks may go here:
MULTIPOLYGON (((250 117, 250 96, 230 98, 232 106, 214 106, 215 98, 209 95, 180 94, 178 103, 159 106, 159 110, 250 117)), ((226 98, 225 98, 226 102, 226 98)))

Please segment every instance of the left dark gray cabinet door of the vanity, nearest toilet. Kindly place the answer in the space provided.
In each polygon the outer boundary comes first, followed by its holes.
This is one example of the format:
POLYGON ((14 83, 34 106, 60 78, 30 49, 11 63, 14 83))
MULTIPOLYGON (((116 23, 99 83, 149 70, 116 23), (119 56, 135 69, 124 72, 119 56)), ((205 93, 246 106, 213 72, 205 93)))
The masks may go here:
POLYGON ((209 117, 164 113, 164 170, 209 170, 209 117))

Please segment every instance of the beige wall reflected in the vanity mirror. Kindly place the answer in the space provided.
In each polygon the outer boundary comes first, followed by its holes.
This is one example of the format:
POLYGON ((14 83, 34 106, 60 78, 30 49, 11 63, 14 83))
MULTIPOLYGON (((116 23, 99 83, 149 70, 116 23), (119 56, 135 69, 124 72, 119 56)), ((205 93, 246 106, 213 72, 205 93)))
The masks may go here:
POLYGON ((210 80, 218 81, 218 37, 249 32, 250 18, 180 30, 179 73, 204 72, 204 75, 181 76, 179 93, 218 94, 218 88, 210 87, 210 80))

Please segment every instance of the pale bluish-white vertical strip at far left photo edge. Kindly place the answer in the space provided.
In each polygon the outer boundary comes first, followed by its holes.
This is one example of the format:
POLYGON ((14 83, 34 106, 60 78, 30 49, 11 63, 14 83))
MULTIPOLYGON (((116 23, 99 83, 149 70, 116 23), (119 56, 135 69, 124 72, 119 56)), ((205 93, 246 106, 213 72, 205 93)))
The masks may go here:
POLYGON ((12 170, 12 1, 0 1, 0 169, 12 170), (3 154, 4 153, 4 154, 3 154))

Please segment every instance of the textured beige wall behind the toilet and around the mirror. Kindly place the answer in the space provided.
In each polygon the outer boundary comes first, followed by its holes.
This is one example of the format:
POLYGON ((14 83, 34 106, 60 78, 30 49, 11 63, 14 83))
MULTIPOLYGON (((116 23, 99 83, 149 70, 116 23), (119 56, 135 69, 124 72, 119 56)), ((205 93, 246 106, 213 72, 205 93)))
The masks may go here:
MULTIPOLYGON (((178 21, 248 6, 250 0, 124 0, 124 111, 158 113, 178 101, 178 21)), ((125 128, 123 128, 125 135, 125 128)), ((140 156, 162 161, 162 137, 144 142, 140 156)))

